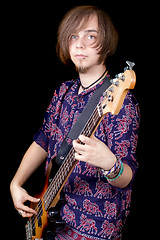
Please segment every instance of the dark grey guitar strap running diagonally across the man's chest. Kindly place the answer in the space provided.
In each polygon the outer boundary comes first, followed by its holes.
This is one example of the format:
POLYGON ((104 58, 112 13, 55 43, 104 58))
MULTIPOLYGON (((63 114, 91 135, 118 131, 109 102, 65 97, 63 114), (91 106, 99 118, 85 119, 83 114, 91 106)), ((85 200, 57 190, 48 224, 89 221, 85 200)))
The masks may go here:
POLYGON ((74 140, 79 137, 90 115, 92 114, 97 104, 99 103, 100 97, 102 96, 103 92, 105 92, 105 90, 109 88, 109 86, 111 85, 110 80, 111 80, 111 77, 107 78, 102 83, 102 85, 95 90, 94 94, 91 96, 86 107, 84 108, 81 115, 79 116, 78 120, 75 122, 75 124, 71 128, 71 131, 63 140, 55 160, 58 165, 62 164, 63 160, 65 159, 70 149, 72 148, 72 145, 67 142, 67 139, 69 138, 71 140, 74 140))

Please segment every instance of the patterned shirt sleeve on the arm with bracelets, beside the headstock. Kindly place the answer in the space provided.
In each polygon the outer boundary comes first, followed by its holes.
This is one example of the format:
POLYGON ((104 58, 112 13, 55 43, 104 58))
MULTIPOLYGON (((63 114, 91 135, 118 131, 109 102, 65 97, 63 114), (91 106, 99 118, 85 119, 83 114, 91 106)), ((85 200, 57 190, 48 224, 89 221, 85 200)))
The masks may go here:
POLYGON ((118 115, 108 116, 107 145, 111 151, 128 164, 133 179, 138 168, 136 148, 140 124, 140 110, 137 100, 128 92, 118 115))

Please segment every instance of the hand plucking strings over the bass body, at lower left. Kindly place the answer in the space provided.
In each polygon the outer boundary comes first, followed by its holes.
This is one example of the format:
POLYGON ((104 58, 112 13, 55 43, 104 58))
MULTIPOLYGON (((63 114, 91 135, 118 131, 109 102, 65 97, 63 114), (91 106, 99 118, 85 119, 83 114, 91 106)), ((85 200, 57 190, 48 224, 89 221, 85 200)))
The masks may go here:
POLYGON ((11 195, 15 209, 20 213, 22 217, 31 217, 33 214, 37 214, 35 210, 26 206, 24 203, 27 200, 37 203, 40 200, 39 198, 30 196, 24 188, 14 184, 11 184, 11 195))

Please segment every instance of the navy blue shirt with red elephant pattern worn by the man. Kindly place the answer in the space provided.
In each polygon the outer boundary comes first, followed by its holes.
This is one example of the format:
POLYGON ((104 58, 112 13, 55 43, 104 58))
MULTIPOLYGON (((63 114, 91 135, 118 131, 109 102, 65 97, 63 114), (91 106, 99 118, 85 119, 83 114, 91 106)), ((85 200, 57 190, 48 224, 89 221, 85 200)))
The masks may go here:
MULTIPOLYGON (((80 80, 76 79, 63 83, 55 91, 43 126, 34 137, 48 152, 46 168, 100 84, 78 94, 80 80)), ((107 113, 95 136, 131 167, 132 181, 123 189, 114 187, 98 167, 78 162, 63 189, 66 204, 61 209, 61 215, 67 227, 57 239, 120 239, 122 226, 129 214, 132 183, 138 167, 139 121, 139 106, 129 91, 119 114, 107 113)))

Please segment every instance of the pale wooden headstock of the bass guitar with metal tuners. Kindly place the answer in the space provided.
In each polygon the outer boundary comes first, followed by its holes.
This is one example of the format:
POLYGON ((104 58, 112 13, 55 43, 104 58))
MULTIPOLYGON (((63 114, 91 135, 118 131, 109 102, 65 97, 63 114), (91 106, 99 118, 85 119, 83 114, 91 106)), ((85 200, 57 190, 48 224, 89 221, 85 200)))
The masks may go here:
POLYGON ((126 70, 111 80, 112 85, 103 93, 101 103, 103 115, 106 113, 118 114, 129 89, 136 84, 136 74, 133 70, 126 70))

